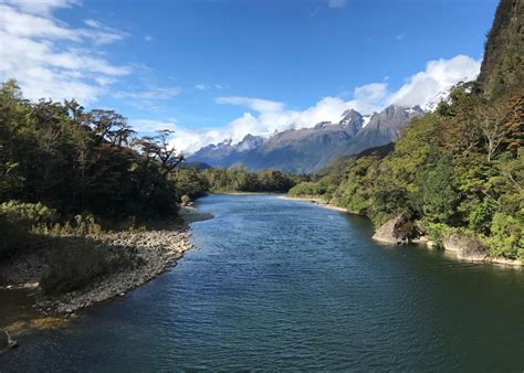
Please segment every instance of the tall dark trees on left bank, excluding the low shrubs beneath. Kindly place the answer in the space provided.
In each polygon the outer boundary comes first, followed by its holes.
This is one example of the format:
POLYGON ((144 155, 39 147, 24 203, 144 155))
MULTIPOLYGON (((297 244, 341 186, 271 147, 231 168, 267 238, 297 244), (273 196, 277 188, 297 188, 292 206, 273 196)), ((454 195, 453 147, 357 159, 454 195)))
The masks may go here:
POLYGON ((43 203, 62 215, 166 216, 176 213, 169 173, 181 161, 169 132, 137 137, 112 110, 0 90, 0 202, 43 203))

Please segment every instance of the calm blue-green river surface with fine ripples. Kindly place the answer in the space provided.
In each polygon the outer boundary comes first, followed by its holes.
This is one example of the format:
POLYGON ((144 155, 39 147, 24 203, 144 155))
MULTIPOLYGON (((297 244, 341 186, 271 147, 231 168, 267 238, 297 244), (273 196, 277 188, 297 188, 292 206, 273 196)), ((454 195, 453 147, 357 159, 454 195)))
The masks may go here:
POLYGON ((0 372, 524 370, 524 271, 370 241, 360 217, 272 195, 211 195, 200 247, 0 372))

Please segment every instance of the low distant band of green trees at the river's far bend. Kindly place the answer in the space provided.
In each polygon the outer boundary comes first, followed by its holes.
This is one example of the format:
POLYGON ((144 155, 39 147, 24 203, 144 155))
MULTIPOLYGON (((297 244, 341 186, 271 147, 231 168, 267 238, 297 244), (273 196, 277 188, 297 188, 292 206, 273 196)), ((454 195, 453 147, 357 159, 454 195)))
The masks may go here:
POLYGON ((172 173, 179 193, 191 200, 207 192, 265 192, 285 193, 304 178, 277 170, 252 172, 241 167, 196 170, 180 168, 172 173))

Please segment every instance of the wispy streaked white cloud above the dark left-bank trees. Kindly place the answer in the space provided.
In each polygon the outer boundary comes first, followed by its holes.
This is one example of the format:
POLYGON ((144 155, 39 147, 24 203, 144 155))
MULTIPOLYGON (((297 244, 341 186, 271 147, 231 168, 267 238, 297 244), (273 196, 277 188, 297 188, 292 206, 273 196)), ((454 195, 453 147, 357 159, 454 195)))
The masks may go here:
POLYGON ((132 68, 98 57, 101 44, 124 33, 85 20, 90 29, 73 29, 52 17, 53 10, 76 1, 0 0, 0 81, 15 78, 29 99, 97 99, 132 68))

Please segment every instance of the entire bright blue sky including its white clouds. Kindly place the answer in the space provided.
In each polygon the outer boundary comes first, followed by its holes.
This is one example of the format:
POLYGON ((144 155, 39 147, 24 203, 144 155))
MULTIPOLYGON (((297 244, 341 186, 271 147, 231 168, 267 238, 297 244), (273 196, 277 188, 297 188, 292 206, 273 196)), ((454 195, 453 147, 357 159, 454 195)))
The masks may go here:
POLYGON ((0 0, 0 77, 188 151, 425 104, 473 78, 494 0, 0 0), (24 57, 25 56, 25 57, 24 57))

